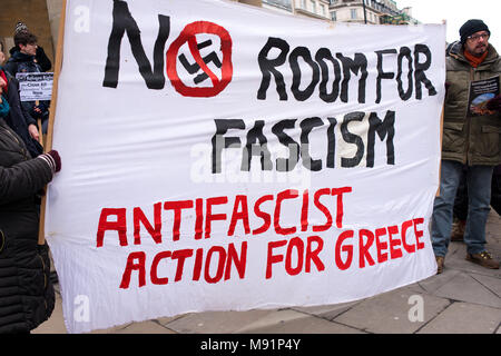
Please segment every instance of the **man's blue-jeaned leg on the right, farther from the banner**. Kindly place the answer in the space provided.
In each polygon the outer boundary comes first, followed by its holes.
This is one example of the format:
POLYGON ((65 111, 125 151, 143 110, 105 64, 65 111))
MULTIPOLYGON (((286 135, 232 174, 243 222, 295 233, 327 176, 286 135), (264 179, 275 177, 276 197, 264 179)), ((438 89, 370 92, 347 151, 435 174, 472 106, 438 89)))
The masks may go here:
POLYGON ((464 243, 469 254, 480 254, 485 250, 485 225, 491 210, 492 171, 492 166, 472 166, 466 175, 469 209, 464 243))

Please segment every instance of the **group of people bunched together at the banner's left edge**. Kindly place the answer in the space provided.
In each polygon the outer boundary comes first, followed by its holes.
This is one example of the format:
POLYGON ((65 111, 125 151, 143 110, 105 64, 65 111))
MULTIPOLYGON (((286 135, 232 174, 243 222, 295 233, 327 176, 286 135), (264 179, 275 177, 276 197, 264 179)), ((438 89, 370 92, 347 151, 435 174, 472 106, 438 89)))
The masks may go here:
MULTIPOLYGON (((55 307, 47 243, 39 245, 45 186, 61 169, 56 150, 43 154, 38 122, 49 102, 21 101, 18 72, 42 72, 51 62, 37 37, 18 23, 6 62, 0 42, 0 334, 30 333, 55 307)), ((42 125, 40 125, 42 127, 42 125)))

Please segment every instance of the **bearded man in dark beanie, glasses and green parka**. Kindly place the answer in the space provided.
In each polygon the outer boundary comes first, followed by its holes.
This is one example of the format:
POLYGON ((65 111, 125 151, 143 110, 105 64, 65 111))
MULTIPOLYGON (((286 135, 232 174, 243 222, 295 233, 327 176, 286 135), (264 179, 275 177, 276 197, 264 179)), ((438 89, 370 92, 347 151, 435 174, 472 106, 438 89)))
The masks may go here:
POLYGON ((440 196, 433 206, 432 243, 438 273, 442 273, 450 243, 455 192, 466 175, 470 195, 464 233, 466 259, 487 268, 499 261, 485 250, 485 224, 490 211, 491 179, 501 162, 501 97, 498 95, 472 112, 472 81, 500 76, 501 57, 489 43, 490 30, 482 20, 469 20, 460 29, 461 41, 446 58, 446 95, 443 119, 440 196))

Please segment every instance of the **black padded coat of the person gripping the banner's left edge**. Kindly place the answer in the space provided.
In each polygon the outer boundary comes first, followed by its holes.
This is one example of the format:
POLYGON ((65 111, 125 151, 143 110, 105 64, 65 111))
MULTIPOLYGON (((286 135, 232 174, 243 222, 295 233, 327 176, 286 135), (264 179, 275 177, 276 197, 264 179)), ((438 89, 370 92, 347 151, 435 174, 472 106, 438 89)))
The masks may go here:
POLYGON ((49 248, 38 245, 37 192, 52 178, 0 118, 0 334, 26 333, 49 318, 55 291, 49 248))

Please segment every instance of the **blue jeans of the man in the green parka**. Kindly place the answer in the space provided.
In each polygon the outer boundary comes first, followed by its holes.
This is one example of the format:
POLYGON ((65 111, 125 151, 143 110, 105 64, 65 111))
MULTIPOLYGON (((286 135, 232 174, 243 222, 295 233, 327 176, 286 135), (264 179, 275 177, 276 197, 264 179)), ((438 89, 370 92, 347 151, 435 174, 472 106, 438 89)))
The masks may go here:
POLYGON ((491 201, 492 166, 469 166, 442 160, 440 196, 433 204, 432 245, 435 256, 445 257, 452 230, 452 212, 455 194, 462 175, 466 175, 468 218, 464 229, 464 243, 469 254, 485 250, 485 224, 491 201))

